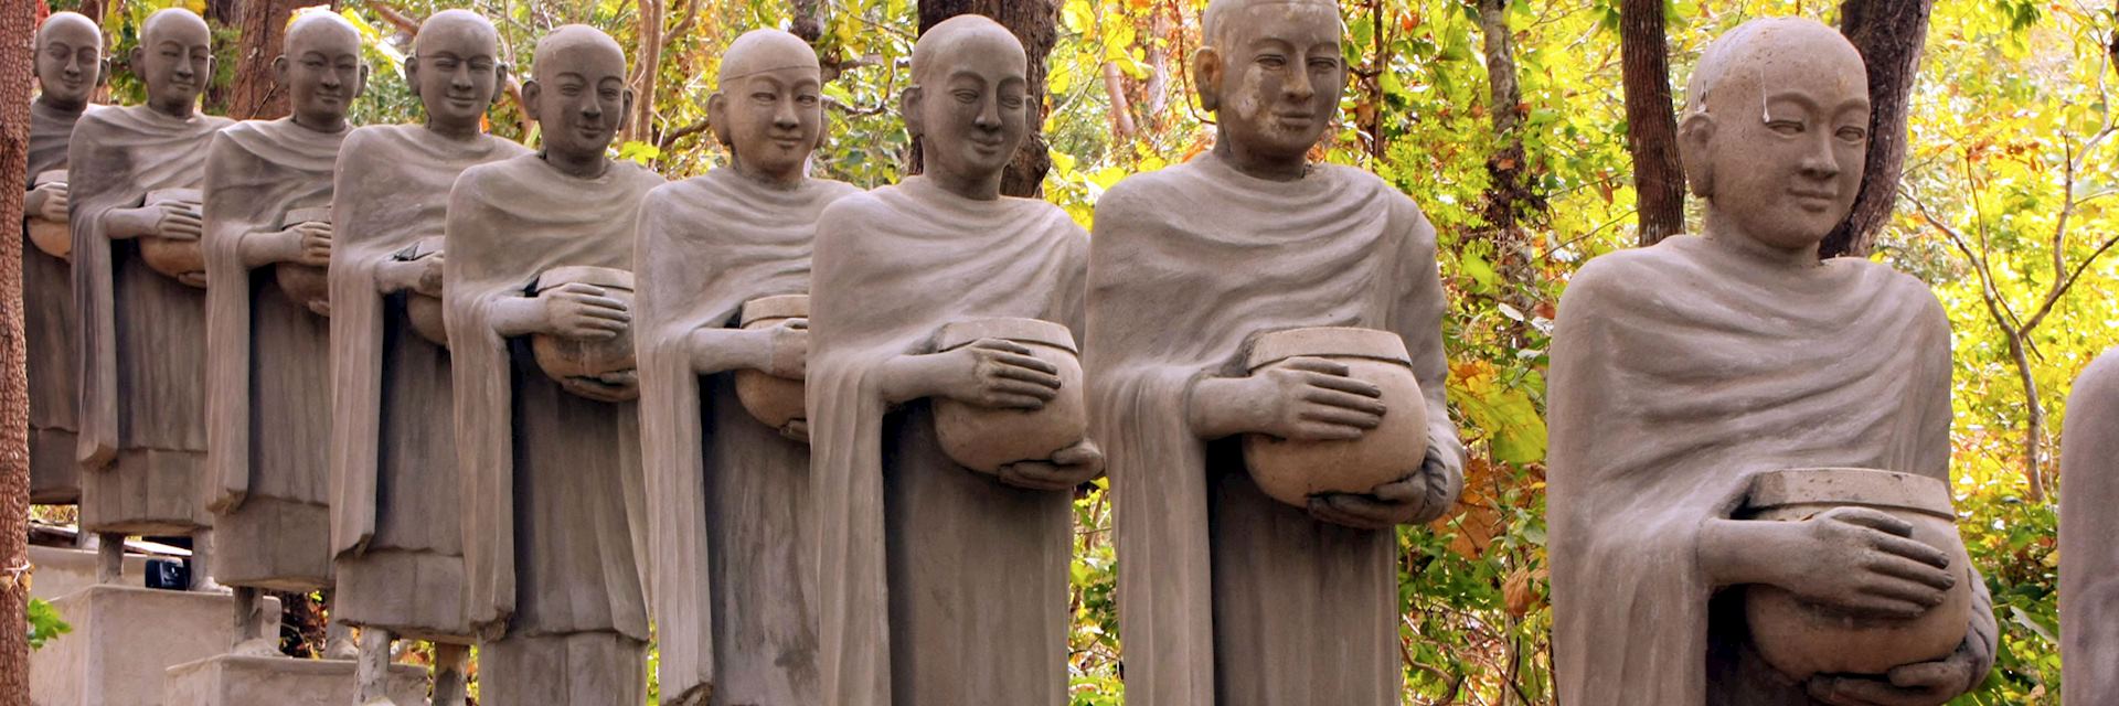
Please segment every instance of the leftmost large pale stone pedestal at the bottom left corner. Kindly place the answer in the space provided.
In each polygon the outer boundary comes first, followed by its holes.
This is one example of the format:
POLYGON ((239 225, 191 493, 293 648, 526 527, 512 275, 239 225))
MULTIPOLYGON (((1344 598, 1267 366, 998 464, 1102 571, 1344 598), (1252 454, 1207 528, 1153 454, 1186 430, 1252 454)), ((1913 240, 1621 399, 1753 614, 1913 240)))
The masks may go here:
MULTIPOLYGON (((91 585, 51 602, 74 630, 30 653, 32 706, 163 706, 163 674, 235 645, 235 598, 91 585)), ((261 611, 278 634, 280 600, 261 611)))

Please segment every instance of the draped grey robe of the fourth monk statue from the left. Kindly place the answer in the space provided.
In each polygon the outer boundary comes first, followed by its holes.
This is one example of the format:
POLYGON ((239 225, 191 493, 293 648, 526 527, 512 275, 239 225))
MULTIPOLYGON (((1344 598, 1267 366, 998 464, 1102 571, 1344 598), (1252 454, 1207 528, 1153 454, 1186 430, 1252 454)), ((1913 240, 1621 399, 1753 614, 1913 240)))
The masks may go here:
POLYGON ((345 136, 333 187, 331 553, 333 617, 424 640, 464 642, 464 534, 456 519, 449 350, 420 337, 409 293, 381 295, 392 254, 441 235, 449 187, 479 163, 530 153, 424 125, 345 136))

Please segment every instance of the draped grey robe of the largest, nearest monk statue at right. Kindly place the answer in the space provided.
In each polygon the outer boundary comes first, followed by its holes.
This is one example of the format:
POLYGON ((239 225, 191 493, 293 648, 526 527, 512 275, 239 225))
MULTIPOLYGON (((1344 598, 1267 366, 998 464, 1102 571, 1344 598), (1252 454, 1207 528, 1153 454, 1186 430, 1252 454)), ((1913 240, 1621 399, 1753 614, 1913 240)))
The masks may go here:
MULTIPOLYGON (((1949 479, 1949 322, 1888 267, 1803 271, 1702 237, 1583 267, 1553 337, 1553 666, 1568 704, 1810 704, 1748 647, 1699 528, 1763 471, 1949 479)), ((1971 570, 1969 566, 1954 566, 1971 570)), ((1975 572, 1973 640, 1994 645, 1975 572)))

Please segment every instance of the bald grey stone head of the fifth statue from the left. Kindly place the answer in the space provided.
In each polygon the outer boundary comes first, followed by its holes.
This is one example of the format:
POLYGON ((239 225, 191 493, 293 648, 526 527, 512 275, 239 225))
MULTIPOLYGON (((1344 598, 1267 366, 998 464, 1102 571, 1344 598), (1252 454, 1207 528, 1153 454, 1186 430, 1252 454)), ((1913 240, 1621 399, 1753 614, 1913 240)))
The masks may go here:
POLYGON ((625 49, 602 30, 564 25, 536 42, 530 61, 523 104, 540 125, 547 159, 602 159, 634 106, 625 49))

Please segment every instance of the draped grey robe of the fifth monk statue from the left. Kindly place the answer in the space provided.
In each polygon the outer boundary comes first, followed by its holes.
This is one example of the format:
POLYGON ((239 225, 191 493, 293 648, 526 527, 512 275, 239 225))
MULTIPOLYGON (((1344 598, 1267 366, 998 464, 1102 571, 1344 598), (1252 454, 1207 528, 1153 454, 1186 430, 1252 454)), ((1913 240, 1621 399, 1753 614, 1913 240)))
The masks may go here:
POLYGON ((443 271, 466 608, 483 642, 481 674, 500 687, 487 691, 496 704, 646 698, 638 405, 564 392, 538 369, 528 337, 496 333, 492 310, 532 295, 551 267, 631 267, 634 216, 661 182, 631 163, 574 178, 526 155, 464 170, 449 193, 443 271))

